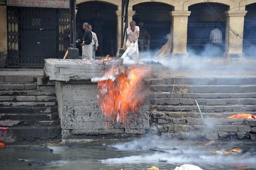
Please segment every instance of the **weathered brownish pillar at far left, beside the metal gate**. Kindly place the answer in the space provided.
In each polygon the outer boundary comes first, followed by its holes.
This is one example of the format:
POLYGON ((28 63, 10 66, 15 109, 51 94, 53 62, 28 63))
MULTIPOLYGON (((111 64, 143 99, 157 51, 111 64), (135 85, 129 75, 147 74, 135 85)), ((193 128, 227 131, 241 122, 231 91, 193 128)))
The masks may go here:
POLYGON ((6 6, 0 6, 0 67, 7 65, 7 16, 6 6))

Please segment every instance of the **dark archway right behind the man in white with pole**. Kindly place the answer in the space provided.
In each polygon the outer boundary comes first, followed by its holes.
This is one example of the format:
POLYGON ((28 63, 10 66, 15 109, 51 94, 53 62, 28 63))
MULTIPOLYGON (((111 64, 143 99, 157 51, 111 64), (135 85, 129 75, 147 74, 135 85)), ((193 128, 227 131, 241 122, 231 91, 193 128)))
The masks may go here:
MULTIPOLYGON (((145 2, 134 5, 132 10, 137 14, 136 25, 138 26, 138 22, 142 21, 142 28, 150 34, 150 51, 160 49, 167 42, 166 34, 170 33, 171 16, 169 12, 173 10, 173 7, 164 3, 145 2)), ((140 45, 139 50, 142 50, 140 45)))

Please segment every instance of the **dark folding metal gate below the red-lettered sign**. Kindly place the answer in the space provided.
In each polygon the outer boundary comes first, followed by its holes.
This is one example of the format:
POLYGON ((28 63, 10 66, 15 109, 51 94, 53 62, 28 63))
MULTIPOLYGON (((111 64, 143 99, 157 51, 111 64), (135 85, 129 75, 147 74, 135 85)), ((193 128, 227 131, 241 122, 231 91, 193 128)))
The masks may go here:
POLYGON ((8 67, 43 67, 63 56, 69 9, 7 7, 8 67))

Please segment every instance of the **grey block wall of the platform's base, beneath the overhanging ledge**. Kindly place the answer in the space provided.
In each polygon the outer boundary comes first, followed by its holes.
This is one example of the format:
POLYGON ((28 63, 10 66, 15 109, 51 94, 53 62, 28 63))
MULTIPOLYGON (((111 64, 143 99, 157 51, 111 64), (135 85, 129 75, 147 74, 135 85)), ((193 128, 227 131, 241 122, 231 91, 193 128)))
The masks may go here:
POLYGON ((62 141, 73 139, 121 139, 125 134, 145 134, 149 128, 149 100, 138 113, 122 122, 106 118, 97 102, 97 84, 87 81, 55 81, 56 97, 62 129, 62 141), (96 137, 97 136, 97 137, 96 137))

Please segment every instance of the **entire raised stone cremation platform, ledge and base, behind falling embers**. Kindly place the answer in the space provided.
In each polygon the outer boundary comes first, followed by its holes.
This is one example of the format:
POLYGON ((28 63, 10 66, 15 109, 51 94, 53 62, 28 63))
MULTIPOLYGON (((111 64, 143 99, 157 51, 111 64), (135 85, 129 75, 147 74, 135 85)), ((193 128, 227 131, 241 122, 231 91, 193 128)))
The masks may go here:
MULTIPOLYGON (((90 142, 98 139, 127 139, 145 134, 149 129, 149 98, 126 121, 105 117, 97 100, 98 86, 92 77, 101 77, 106 71, 120 65, 120 60, 60 60, 46 59, 45 75, 55 80, 62 142, 90 142), (127 123, 128 122, 128 123, 127 123)), ((142 67, 135 64, 135 67, 142 67)), ((147 65, 150 76, 159 77, 161 65, 147 65)), ((144 88, 149 84, 144 78, 144 88)), ((128 100, 128 99, 127 99, 128 100)), ((114 104, 114 103, 113 103, 114 104)), ((102 140, 101 140, 102 141, 102 140)))

